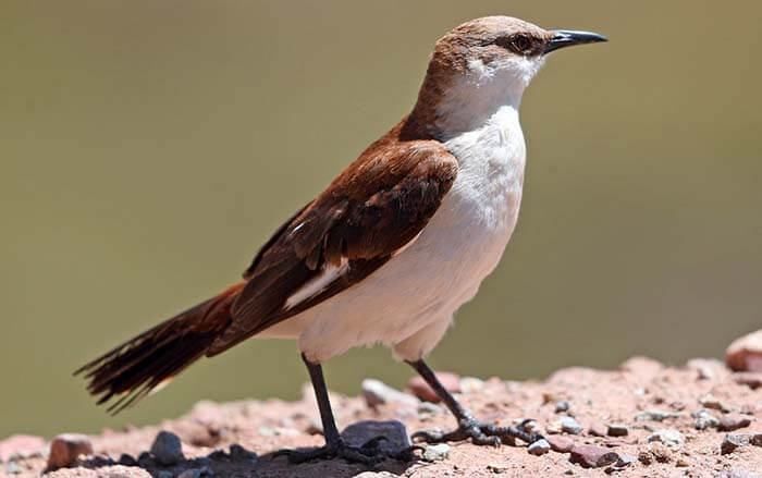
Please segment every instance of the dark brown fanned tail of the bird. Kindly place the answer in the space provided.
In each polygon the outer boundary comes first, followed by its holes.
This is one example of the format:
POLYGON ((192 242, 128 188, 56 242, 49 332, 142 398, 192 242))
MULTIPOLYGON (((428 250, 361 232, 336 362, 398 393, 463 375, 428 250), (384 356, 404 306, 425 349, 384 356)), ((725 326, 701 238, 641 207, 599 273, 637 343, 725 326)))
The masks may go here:
POLYGON ((96 358, 74 372, 86 372, 87 390, 101 395, 98 405, 114 396, 114 414, 136 403, 200 358, 231 321, 230 307, 245 282, 161 322, 96 358))

